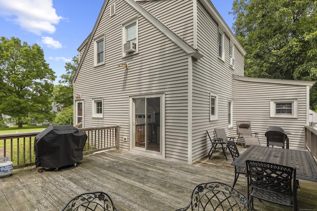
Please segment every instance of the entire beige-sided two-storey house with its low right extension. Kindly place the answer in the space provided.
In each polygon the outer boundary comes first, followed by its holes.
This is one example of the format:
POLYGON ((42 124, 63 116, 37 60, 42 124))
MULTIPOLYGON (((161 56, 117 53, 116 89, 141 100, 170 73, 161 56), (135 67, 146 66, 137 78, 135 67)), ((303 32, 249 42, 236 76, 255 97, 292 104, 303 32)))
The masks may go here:
POLYGON ((236 120, 263 144, 278 123, 303 147, 313 83, 243 77, 246 52, 210 0, 105 0, 78 51, 74 124, 119 125, 120 149, 191 164, 210 150, 206 130, 234 135, 236 120))

